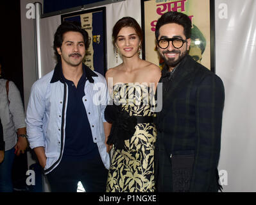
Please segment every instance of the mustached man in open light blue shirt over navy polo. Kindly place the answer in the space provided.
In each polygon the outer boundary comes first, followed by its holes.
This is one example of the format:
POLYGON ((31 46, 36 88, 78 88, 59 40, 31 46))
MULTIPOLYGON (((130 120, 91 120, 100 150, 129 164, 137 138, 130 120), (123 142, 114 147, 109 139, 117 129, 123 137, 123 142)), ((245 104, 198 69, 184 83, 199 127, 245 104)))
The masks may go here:
POLYGON ((82 63, 86 31, 63 22, 55 33, 55 69, 31 88, 26 113, 30 147, 52 192, 105 192, 109 149, 104 118, 108 101, 105 78, 82 63))

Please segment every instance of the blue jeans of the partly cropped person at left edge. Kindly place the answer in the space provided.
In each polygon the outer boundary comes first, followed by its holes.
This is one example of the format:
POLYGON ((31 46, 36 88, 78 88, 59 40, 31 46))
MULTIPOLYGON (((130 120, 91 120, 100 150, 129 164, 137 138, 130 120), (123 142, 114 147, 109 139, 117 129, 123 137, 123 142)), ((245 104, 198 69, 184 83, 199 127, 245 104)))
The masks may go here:
POLYGON ((14 152, 14 147, 4 152, 4 160, 0 164, 0 192, 13 192, 12 165, 14 152))

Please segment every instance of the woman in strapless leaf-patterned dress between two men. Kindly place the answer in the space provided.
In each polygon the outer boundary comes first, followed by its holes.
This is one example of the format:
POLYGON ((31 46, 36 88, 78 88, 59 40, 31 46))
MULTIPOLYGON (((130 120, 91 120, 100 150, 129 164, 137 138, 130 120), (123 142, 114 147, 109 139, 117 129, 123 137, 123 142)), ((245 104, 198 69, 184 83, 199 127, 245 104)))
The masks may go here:
POLYGON ((114 144, 107 192, 154 192, 154 94, 161 72, 139 58, 142 31, 135 19, 117 21, 112 37, 123 63, 106 74, 113 100, 105 110, 111 127, 107 143, 114 144))

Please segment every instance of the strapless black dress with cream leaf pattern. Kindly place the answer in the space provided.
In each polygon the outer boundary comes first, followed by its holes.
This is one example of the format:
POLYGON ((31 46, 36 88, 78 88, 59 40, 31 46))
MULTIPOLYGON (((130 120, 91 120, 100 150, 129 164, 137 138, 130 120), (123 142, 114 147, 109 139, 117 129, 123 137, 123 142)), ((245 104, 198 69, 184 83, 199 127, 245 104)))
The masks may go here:
POLYGON ((116 138, 114 141, 121 141, 119 144, 123 142, 123 145, 114 143, 107 192, 155 191, 154 147, 157 131, 153 121, 148 120, 153 119, 153 90, 139 83, 118 83, 113 87, 114 104, 120 106, 112 135, 116 138), (122 124, 123 128, 120 128, 122 124), (130 136, 125 136, 123 129, 127 129, 130 136))

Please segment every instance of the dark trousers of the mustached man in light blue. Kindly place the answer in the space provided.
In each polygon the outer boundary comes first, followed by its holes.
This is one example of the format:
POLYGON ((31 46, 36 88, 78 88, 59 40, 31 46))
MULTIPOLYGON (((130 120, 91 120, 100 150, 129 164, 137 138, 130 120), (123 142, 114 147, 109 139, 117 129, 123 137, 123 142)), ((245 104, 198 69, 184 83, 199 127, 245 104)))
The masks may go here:
POLYGON ((105 192, 108 170, 97 149, 86 157, 64 156, 46 176, 51 192, 76 192, 78 181, 83 184, 85 192, 105 192))

